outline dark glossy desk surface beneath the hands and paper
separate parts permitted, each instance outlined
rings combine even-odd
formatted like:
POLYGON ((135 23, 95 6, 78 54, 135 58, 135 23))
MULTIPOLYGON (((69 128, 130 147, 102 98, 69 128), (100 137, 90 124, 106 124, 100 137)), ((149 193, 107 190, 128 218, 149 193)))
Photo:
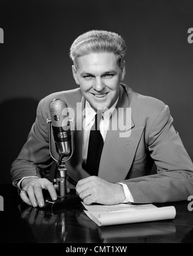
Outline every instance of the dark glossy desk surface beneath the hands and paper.
POLYGON ((0 195, 5 202, 4 212, 0 212, 1 243, 193 242, 189 201, 156 204, 175 206, 174 220, 98 227, 82 211, 79 200, 76 205, 50 212, 26 206, 12 185, 0 185, 0 195))

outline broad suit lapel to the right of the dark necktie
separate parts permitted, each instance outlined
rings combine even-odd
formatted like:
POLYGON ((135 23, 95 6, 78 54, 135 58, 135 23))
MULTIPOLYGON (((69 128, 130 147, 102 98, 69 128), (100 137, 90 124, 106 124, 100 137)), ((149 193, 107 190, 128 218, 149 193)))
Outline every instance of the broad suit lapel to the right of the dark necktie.
POLYGON ((142 133, 143 126, 133 129, 131 136, 125 138, 118 137, 115 131, 109 132, 100 159, 98 177, 109 182, 124 180, 133 163, 142 133))

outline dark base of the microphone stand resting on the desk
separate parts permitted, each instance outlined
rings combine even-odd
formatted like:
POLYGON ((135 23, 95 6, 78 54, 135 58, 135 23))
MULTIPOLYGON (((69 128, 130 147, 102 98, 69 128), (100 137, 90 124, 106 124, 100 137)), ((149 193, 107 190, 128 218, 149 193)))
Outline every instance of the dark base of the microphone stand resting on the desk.
POLYGON ((46 210, 60 210, 62 208, 69 208, 80 203, 80 197, 75 193, 68 193, 64 196, 58 195, 57 200, 53 201, 51 197, 45 199, 44 208, 46 210))

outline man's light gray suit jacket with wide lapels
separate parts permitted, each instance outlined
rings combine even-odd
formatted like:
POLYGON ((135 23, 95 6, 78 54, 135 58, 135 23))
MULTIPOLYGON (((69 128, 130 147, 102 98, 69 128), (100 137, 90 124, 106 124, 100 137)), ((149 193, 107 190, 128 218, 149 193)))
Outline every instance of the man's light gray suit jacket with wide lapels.
MULTIPOLYGON (((113 112, 106 135, 98 177, 109 182, 125 182, 136 203, 187 200, 193 195, 193 164, 183 143, 172 126, 169 107, 158 99, 137 94, 125 84, 120 85, 116 110, 130 108, 131 112, 113 112), (118 115, 118 129, 111 123, 118 115), (125 126, 125 117, 131 118, 125 126), (149 175, 155 162, 157 173, 149 175)), ((57 92, 42 99, 37 118, 19 156, 12 164, 13 184, 25 176, 48 177, 53 159, 49 152, 49 104, 59 98, 75 110, 74 152, 67 162, 69 181, 76 183, 89 174, 82 168, 82 121, 85 99, 80 88, 57 92), (78 107, 77 107, 78 103, 78 107), (79 130, 78 130, 79 129, 79 130)), ((59 158, 51 134, 52 153, 59 158)))

